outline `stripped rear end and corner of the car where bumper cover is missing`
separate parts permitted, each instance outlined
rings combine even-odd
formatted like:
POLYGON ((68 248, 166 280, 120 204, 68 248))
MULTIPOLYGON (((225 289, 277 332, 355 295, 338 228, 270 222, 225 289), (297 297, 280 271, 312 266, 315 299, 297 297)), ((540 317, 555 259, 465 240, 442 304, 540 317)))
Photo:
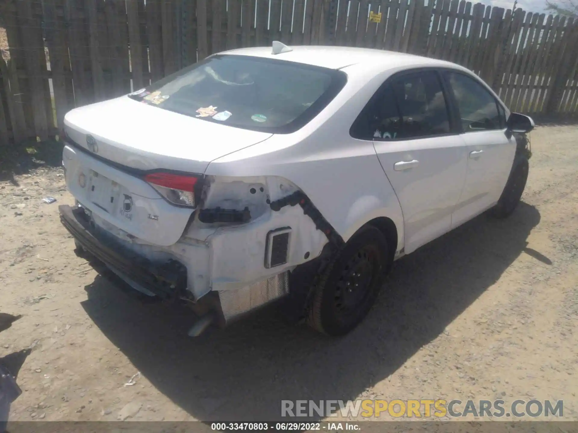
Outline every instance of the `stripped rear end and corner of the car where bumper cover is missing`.
MULTIPOLYGON (((80 244, 113 263, 109 268, 134 289, 164 301, 186 301, 198 316, 189 335, 201 334, 210 324, 225 326, 272 301, 280 301, 290 320, 302 319, 315 279, 343 245, 342 237, 305 193, 284 178, 205 176, 199 192, 182 236, 169 247, 127 237, 90 215, 88 229, 99 241, 120 244, 142 257, 140 270, 127 270, 95 253, 86 241, 80 244), (135 277, 139 272, 156 280, 155 290, 147 289, 151 285, 143 284, 140 275, 135 277)), ((70 223, 63 223, 79 240, 70 223)))

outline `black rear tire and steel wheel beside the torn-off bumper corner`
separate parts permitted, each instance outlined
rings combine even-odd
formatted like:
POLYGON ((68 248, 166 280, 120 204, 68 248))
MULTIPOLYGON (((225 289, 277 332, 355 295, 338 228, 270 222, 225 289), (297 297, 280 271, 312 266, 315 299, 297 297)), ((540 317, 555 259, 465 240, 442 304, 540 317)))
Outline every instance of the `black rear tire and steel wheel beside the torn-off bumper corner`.
POLYGON ((375 303, 391 262, 384 234, 370 225, 362 227, 321 275, 309 325, 334 337, 353 330, 375 303))

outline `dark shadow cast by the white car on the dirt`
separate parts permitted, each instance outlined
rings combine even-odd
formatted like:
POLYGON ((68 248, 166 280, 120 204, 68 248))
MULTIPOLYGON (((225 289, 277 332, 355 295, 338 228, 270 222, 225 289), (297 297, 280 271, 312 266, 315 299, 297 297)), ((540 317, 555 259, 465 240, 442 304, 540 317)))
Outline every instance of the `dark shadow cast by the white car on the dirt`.
POLYGON ((353 400, 395 372, 500 278, 539 221, 520 203, 509 219, 481 215, 404 257, 369 317, 341 339, 285 324, 271 309, 191 339, 188 311, 139 304, 103 277, 86 286, 83 308, 197 419, 277 420, 281 400, 353 400))

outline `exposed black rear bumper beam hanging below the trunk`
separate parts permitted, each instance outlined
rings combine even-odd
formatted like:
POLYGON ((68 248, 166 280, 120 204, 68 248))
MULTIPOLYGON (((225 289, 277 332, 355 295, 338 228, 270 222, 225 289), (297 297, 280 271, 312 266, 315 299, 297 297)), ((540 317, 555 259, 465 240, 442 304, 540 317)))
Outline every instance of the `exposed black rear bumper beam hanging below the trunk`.
POLYGON ((60 221, 77 242, 98 260, 126 275, 162 300, 184 295, 187 288, 187 268, 176 260, 162 265, 150 262, 131 251, 97 237, 82 208, 58 206, 60 221))

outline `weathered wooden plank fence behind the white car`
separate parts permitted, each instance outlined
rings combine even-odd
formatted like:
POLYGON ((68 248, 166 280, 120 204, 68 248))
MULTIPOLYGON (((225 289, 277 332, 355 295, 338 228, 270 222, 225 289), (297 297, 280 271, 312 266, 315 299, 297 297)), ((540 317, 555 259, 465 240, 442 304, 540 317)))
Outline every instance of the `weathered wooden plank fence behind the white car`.
POLYGON ((578 117, 578 20, 465 0, 0 0, 0 144, 57 135, 66 111, 229 48, 426 55, 479 74, 510 109, 578 117), (381 15, 379 15, 381 14, 381 15))

